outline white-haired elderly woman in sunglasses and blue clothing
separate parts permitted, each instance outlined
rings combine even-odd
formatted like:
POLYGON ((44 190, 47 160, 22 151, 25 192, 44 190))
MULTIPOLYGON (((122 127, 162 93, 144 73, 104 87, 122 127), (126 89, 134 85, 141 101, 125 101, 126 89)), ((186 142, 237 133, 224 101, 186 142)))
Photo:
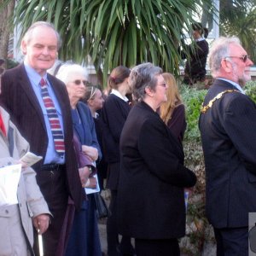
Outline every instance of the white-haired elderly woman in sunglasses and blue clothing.
MULTIPOLYGON (((96 138, 94 120, 90 108, 84 102, 85 85, 87 84, 88 73, 84 67, 76 64, 64 64, 56 74, 67 86, 70 100, 73 131, 79 138, 82 151, 91 161, 102 158, 101 148, 96 138)), ((89 176, 90 173, 87 173, 89 176)), ((85 187, 96 188, 96 178, 89 177, 85 187)), ((67 244, 66 256, 89 255, 101 256, 101 244, 97 227, 96 206, 93 195, 87 195, 83 201, 80 212, 75 212, 73 229, 67 244)))

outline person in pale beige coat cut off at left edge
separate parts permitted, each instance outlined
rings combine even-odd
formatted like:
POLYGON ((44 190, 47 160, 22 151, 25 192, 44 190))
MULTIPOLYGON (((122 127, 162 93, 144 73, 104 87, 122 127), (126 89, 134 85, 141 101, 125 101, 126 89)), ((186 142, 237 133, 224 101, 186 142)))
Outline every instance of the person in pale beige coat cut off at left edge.
MULTIPOLYGON (((4 72, 3 59, 0 59, 1 77, 4 72)), ((29 144, 20 135, 10 120, 9 113, 0 107, 0 167, 16 165, 29 151, 29 144)), ((49 226, 49 208, 42 195, 36 173, 31 167, 22 166, 17 189, 17 203, 0 201, 0 255, 33 255, 32 224, 38 234, 44 234, 49 226)))

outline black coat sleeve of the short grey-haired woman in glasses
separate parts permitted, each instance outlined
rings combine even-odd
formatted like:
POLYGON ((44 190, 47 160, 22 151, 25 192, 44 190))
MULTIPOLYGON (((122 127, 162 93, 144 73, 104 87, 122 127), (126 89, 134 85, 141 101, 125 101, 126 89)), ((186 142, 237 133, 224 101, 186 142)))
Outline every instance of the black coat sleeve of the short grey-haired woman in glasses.
POLYGON ((195 173, 183 166, 177 158, 174 153, 177 148, 172 148, 172 142, 162 127, 159 121, 149 119, 143 124, 139 135, 138 148, 148 170, 174 186, 194 186, 195 173))

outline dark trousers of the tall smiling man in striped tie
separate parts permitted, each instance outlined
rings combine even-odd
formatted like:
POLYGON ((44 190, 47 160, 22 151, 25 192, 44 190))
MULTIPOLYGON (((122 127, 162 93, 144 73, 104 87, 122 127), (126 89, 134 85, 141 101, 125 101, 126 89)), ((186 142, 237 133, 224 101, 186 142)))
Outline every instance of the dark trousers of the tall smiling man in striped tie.
MULTIPOLYGON (((37 182, 41 189, 44 199, 48 204, 49 211, 53 215, 48 230, 43 235, 44 256, 54 256, 59 238, 61 236, 61 228, 65 218, 67 209, 67 186, 66 186, 66 170, 65 166, 60 168, 52 168, 52 170, 40 170, 37 172, 37 182)), ((38 252, 38 236, 35 234, 34 250, 36 255, 38 252)))

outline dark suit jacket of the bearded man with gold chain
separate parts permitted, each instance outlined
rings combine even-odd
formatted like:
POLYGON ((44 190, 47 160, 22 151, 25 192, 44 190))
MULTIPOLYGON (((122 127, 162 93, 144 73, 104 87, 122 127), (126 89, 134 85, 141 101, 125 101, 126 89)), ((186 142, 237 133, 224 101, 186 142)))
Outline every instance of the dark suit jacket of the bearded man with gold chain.
MULTIPOLYGON (((236 89, 217 79, 204 106, 219 92, 236 89)), ((224 94, 199 127, 206 164, 207 218, 215 228, 248 225, 248 212, 256 212, 256 106, 240 92, 224 94)))

